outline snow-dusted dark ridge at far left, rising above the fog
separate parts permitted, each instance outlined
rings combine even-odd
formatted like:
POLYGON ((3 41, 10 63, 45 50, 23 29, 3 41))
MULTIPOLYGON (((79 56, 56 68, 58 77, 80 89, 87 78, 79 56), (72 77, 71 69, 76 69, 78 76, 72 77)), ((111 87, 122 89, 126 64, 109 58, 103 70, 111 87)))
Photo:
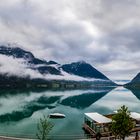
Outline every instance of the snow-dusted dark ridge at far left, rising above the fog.
POLYGON ((38 58, 35 58, 34 55, 29 52, 25 51, 18 47, 9 47, 9 46, 0 46, 0 54, 11 56, 17 59, 23 59, 27 64, 29 69, 36 70, 41 74, 54 74, 54 75, 61 75, 61 71, 59 71, 54 66, 51 65, 58 65, 55 61, 45 61, 38 58))

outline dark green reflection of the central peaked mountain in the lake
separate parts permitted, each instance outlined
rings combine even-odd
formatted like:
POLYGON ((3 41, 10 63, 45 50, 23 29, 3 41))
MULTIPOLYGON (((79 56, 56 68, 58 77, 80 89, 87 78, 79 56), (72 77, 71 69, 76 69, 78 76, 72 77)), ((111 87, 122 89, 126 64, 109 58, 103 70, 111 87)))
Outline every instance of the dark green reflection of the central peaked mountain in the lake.
POLYGON ((102 90, 101 92, 87 92, 76 96, 70 96, 62 100, 61 104, 79 109, 84 109, 98 101, 112 89, 113 88, 110 88, 108 90, 102 90))

